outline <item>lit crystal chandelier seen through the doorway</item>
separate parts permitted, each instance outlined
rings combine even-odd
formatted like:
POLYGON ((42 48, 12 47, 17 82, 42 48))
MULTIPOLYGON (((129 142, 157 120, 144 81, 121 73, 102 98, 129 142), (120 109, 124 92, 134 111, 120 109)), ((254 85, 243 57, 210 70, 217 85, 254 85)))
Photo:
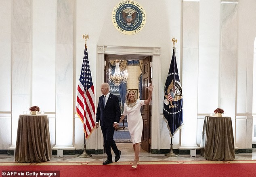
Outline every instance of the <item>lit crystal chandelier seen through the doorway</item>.
POLYGON ((115 86, 119 86, 121 83, 126 83, 128 79, 127 70, 124 73, 120 72, 120 62, 121 60, 114 60, 115 62, 115 72, 112 75, 111 70, 109 69, 109 82, 113 82, 115 86))

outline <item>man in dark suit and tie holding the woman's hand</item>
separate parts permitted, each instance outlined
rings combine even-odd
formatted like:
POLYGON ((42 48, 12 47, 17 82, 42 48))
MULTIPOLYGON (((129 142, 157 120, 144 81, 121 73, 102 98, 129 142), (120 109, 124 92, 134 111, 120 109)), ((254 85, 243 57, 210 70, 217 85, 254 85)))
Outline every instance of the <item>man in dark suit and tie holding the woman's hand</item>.
POLYGON ((109 93, 109 84, 101 84, 101 93, 99 97, 99 103, 96 113, 96 128, 99 128, 99 122, 101 123, 101 131, 103 134, 107 160, 103 162, 103 165, 112 163, 111 148, 115 153, 115 162, 120 159, 121 151, 118 150, 115 141, 113 139, 115 126, 118 126, 121 112, 118 97, 109 93))

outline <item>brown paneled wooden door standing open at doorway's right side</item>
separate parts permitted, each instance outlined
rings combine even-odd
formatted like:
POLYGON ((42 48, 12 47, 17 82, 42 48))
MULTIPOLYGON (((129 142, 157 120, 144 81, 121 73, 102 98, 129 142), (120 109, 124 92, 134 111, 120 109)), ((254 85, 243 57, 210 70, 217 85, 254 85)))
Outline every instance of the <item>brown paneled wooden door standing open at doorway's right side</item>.
MULTIPOLYGON (((142 99, 147 99, 149 91, 147 87, 151 82, 151 70, 150 62, 151 56, 148 56, 143 60, 143 71, 142 71, 142 99)), ((147 152, 150 152, 151 144, 151 106, 149 104, 142 106, 141 115, 143 120, 143 132, 141 137, 141 148, 147 152)))

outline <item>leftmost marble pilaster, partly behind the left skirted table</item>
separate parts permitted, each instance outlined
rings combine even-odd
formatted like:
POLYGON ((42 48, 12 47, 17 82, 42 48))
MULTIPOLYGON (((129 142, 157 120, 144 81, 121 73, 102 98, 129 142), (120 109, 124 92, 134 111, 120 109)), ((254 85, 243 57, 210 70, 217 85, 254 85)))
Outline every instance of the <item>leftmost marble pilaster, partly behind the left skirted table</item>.
POLYGON ((12 5, 12 145, 8 150, 15 148, 19 114, 29 111, 31 91, 31 0, 12 5))

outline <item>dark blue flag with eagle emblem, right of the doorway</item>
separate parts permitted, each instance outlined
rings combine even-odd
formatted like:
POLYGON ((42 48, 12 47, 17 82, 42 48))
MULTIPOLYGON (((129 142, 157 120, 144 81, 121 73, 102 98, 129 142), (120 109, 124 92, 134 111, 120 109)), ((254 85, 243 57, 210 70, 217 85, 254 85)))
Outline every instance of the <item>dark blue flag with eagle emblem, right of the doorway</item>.
POLYGON ((182 88, 178 76, 175 48, 172 51, 172 61, 164 85, 164 118, 168 123, 171 138, 183 125, 182 88))

